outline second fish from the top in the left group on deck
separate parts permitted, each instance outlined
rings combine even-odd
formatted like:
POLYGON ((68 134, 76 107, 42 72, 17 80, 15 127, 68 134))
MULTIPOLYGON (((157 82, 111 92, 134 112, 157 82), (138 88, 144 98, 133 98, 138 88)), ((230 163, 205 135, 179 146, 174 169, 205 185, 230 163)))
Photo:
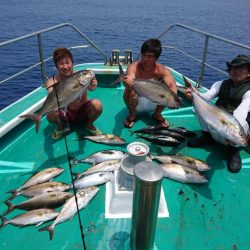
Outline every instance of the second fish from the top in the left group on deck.
POLYGON ((31 186, 25 190, 9 191, 8 193, 12 193, 12 196, 8 200, 11 200, 18 195, 23 195, 25 197, 33 197, 33 196, 37 196, 41 194, 46 194, 49 192, 63 192, 69 189, 70 189, 70 186, 66 183, 49 181, 49 182, 44 182, 44 183, 31 186))

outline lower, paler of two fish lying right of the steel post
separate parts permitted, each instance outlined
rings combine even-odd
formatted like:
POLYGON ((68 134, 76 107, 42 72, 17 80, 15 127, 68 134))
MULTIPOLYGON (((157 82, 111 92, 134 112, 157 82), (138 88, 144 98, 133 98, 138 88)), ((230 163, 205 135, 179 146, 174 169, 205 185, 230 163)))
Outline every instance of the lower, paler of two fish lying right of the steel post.
POLYGON ((195 169, 180 164, 160 164, 164 177, 182 183, 206 183, 207 178, 195 169))

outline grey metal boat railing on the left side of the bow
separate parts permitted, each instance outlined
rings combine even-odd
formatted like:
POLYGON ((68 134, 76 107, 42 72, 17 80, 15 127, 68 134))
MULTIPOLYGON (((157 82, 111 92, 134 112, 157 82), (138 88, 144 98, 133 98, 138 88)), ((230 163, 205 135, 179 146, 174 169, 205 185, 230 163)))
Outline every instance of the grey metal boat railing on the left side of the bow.
POLYGON ((30 33, 30 34, 20 36, 20 37, 10 39, 10 40, 7 40, 5 42, 0 43, 0 48, 1 48, 3 46, 7 46, 7 45, 10 45, 10 44, 13 44, 13 43, 17 43, 17 42, 20 42, 20 41, 23 41, 23 40, 26 40, 26 39, 29 39, 29 38, 32 38, 32 37, 37 37, 38 48, 39 48, 39 58, 40 58, 39 62, 34 63, 30 67, 27 67, 24 70, 21 70, 21 71, 15 73, 15 74, 3 79, 3 80, 1 80, 0 85, 3 84, 3 83, 8 82, 8 81, 10 81, 10 80, 12 80, 14 78, 16 78, 16 77, 18 77, 18 76, 20 76, 20 75, 22 75, 22 74, 24 74, 26 72, 29 72, 29 71, 31 71, 34 68, 39 67, 39 66, 41 67, 41 75, 42 75, 43 82, 45 82, 47 80, 47 78, 46 78, 46 70, 45 70, 45 63, 47 61, 52 60, 52 57, 50 56, 50 57, 44 59, 44 53, 43 53, 44 48, 43 48, 43 43, 42 43, 42 35, 44 33, 48 33, 48 32, 54 31, 54 30, 58 30, 58 29, 61 29, 61 28, 64 28, 64 27, 69 27, 69 28, 73 29, 82 39, 84 39, 85 42, 88 42, 87 45, 74 46, 74 47, 71 47, 69 49, 93 47, 104 58, 104 63, 108 62, 107 55, 92 40, 90 40, 84 33, 82 33, 78 28, 76 28, 71 23, 61 23, 61 24, 58 24, 58 25, 55 25, 55 26, 52 26, 52 27, 49 27, 49 28, 46 28, 46 29, 42 29, 42 30, 30 33))

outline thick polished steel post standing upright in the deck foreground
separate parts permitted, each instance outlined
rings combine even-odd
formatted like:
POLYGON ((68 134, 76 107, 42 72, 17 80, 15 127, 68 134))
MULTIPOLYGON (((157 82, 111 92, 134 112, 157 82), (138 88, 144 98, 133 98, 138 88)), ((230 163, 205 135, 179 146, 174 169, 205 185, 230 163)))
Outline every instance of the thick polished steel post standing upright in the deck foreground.
POLYGON ((162 178, 163 170, 156 163, 143 161, 135 165, 131 249, 153 249, 162 178))

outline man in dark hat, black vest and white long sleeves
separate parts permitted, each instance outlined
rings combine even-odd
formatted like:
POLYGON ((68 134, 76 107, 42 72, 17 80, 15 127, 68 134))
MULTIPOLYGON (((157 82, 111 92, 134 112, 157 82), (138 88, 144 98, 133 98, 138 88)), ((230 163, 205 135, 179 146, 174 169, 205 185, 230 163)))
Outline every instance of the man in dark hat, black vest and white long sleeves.
MULTIPOLYGON (((227 62, 229 77, 224 81, 215 82, 206 93, 200 95, 210 101, 218 97, 216 106, 231 113, 242 125, 244 131, 249 133, 250 124, 250 57, 238 55, 231 62, 227 62)), ((186 91, 190 98, 190 90, 186 91)), ((202 136, 188 141, 192 148, 210 145, 213 138, 208 132, 206 124, 201 122, 202 136)), ((239 154, 240 148, 228 146, 227 168, 230 172, 239 172, 242 166, 239 154)))

